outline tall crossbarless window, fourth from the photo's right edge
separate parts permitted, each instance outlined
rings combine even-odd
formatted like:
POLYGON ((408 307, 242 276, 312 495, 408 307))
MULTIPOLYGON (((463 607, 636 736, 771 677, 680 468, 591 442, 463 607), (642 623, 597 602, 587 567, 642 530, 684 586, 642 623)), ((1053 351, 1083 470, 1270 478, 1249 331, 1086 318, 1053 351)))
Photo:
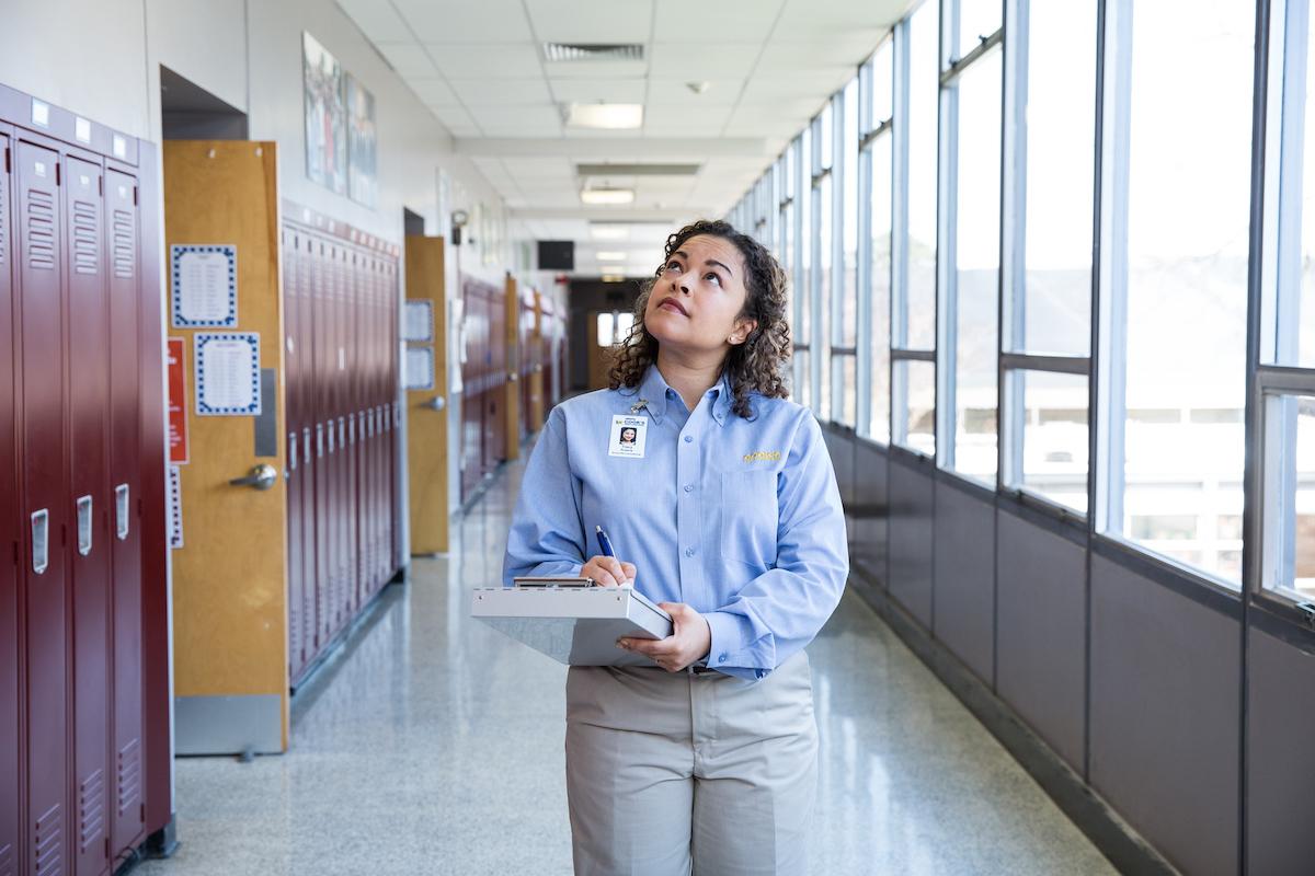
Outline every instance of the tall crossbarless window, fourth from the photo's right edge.
MULTIPOLYGON (((961 0, 944 0, 957 22, 961 0)), ((998 8, 998 4, 997 4, 998 8)), ((953 30, 953 29, 951 29, 953 30)), ((940 336, 938 445, 940 465, 995 486, 1001 42, 995 30, 973 41, 942 72, 940 93, 940 336)), ((953 34, 947 34, 952 39, 953 34)))

